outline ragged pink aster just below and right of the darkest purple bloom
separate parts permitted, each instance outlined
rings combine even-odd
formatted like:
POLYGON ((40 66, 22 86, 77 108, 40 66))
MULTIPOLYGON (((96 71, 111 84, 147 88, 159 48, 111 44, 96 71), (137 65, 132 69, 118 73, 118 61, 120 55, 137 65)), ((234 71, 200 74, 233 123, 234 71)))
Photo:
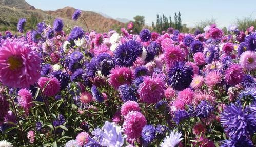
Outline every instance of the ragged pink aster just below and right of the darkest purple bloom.
POLYGON ((190 88, 186 88, 178 93, 177 99, 183 101, 185 104, 192 102, 194 98, 194 91, 190 88))

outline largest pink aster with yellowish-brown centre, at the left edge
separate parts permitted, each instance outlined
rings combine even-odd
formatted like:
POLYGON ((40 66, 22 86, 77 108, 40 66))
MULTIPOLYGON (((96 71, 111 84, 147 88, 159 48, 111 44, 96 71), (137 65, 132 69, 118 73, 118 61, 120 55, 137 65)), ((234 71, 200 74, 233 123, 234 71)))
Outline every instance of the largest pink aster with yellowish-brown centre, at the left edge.
POLYGON ((0 81, 13 88, 27 88, 40 78, 40 58, 27 42, 7 39, 0 47, 0 81))

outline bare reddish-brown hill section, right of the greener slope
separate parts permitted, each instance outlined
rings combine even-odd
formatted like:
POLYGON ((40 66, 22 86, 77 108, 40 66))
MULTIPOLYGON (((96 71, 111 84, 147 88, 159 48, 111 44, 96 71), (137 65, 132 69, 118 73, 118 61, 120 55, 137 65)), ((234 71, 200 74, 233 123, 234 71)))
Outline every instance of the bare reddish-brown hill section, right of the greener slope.
MULTIPOLYGON (((50 14, 51 16, 71 19, 74 11, 75 11, 75 9, 72 7, 65 7, 63 9, 58 9, 55 11, 45 11, 45 12, 50 14)), ((124 23, 122 23, 122 22, 103 17, 99 13, 95 13, 95 12, 91 12, 91 11, 82 11, 81 16, 86 20, 86 23, 87 23, 89 29, 97 30, 100 32, 108 31, 114 25, 124 26, 124 23)), ((84 21, 82 19, 79 19, 78 22, 84 24, 84 21)))

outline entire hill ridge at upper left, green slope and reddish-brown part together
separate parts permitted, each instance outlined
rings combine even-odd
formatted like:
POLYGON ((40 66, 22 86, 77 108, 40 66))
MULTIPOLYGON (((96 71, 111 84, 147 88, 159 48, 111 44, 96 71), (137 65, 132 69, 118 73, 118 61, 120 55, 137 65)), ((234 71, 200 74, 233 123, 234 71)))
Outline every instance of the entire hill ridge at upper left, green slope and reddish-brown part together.
MULTIPOLYGON (((71 28, 77 25, 86 29, 83 20, 73 21, 71 19, 75 10, 72 7, 65 7, 55 11, 43 11, 34 8, 24 0, 0 0, 0 29, 4 27, 14 30, 19 18, 29 18, 31 15, 35 16, 38 20, 45 20, 49 23, 56 17, 60 17, 71 28)), ((90 30, 96 30, 98 32, 109 31, 113 26, 124 26, 124 23, 120 21, 106 18, 92 11, 82 11, 81 16, 86 20, 90 30)), ((5 29, 1 30, 3 31, 5 29)))

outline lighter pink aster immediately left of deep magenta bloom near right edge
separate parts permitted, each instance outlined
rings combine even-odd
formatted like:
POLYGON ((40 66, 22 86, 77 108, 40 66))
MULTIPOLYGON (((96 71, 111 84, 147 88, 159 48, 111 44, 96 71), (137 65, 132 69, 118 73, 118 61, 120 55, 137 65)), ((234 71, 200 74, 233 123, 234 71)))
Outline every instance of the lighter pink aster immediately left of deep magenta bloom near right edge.
POLYGON ((209 71, 205 76, 205 84, 208 87, 213 87, 221 82, 221 73, 219 71, 213 70, 209 71))

